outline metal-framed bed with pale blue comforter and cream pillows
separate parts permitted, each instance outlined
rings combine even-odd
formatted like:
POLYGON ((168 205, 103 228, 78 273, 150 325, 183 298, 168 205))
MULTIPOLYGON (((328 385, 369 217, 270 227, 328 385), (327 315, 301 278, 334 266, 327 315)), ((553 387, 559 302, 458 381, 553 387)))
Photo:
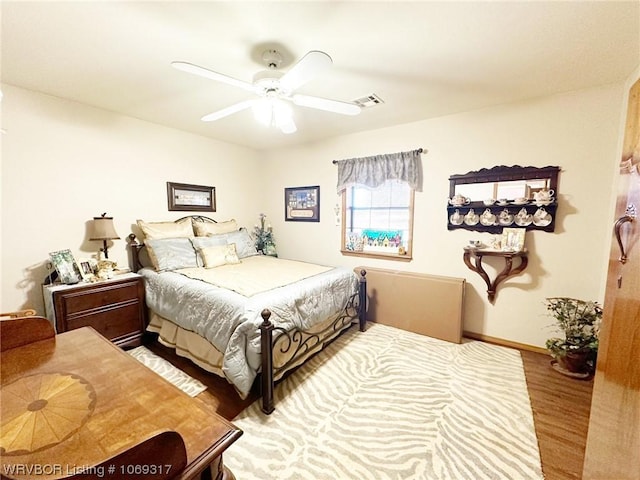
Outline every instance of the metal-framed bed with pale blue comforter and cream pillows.
POLYGON ((144 222, 129 235, 145 279, 147 331, 245 398, 274 385, 353 324, 366 326, 366 272, 259 254, 234 220, 193 215, 144 222), (144 242, 139 238, 144 236, 144 242))

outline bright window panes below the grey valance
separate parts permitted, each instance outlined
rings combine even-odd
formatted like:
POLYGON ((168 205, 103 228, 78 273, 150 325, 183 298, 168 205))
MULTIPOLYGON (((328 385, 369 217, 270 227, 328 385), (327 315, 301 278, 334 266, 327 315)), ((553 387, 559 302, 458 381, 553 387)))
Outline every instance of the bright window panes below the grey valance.
POLYGON ((413 199, 414 190, 402 181, 348 186, 342 193, 342 253, 411 260, 413 199))

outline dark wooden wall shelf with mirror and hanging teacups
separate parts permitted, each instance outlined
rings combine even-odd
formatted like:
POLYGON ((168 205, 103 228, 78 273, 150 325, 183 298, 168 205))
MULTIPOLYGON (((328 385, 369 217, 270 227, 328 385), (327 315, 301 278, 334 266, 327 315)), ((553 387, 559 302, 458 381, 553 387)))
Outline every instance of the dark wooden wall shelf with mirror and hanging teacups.
POLYGON ((507 167, 449 177, 447 228, 500 233, 504 227, 553 232, 560 167, 507 167))

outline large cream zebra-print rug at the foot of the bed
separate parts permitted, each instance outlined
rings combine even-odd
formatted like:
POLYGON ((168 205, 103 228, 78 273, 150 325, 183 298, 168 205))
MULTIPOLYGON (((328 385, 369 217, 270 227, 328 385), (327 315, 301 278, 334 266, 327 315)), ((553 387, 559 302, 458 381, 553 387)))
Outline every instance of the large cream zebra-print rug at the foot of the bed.
POLYGON ((544 478, 520 353, 380 324, 351 328, 233 423, 256 480, 544 478))

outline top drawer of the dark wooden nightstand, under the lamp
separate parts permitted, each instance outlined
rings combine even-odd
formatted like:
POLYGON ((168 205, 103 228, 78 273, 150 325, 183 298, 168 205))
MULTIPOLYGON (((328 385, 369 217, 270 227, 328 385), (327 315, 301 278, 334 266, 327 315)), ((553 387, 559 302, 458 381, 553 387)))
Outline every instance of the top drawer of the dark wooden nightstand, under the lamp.
POLYGON ((99 288, 79 289, 62 296, 64 311, 67 315, 74 315, 106 305, 118 305, 123 302, 138 299, 138 282, 127 282, 115 285, 105 285, 99 288))

